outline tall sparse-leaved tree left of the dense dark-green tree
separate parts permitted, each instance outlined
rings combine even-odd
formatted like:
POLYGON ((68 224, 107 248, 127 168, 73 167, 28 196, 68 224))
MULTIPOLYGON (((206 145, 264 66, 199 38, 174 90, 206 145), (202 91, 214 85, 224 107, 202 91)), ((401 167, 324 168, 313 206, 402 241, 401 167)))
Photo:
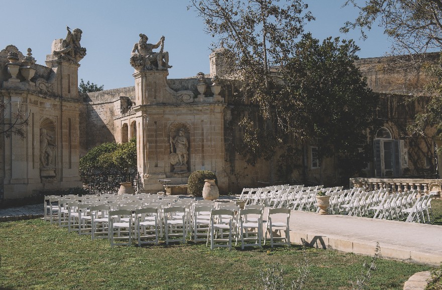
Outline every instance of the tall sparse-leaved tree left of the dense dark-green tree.
MULTIPOLYGON (((247 131, 239 151, 253 148, 248 162, 254 164, 264 157, 273 163, 278 138, 275 135, 273 96, 276 93, 275 79, 271 67, 284 65, 294 49, 294 39, 302 32, 304 24, 313 20, 307 5, 302 0, 292 0, 281 5, 279 0, 191 0, 191 6, 204 19, 206 31, 219 38, 228 50, 225 51, 225 73, 242 82, 239 103, 245 100, 252 107, 243 107, 245 113, 239 120, 247 131), (266 128, 258 126, 248 114, 256 110, 263 117, 266 128), (259 140, 259 141, 256 141, 259 140), (241 149, 242 148, 242 149, 241 149)), ((190 9, 189 7, 189 9, 190 9)), ((214 45, 213 45, 214 46, 214 45)), ((273 169, 273 166, 270 166, 273 169)), ((273 172, 270 179, 274 179, 273 172)))

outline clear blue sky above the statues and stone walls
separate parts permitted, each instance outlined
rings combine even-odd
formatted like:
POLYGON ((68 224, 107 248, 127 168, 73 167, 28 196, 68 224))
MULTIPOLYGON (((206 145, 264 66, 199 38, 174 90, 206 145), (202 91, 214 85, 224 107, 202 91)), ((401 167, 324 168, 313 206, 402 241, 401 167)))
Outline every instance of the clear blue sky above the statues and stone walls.
MULTIPOLYGON (((341 8, 345 0, 304 0, 316 21, 306 26, 313 37, 340 36, 354 39, 361 47, 361 58, 383 56, 390 43, 375 27, 368 40, 360 40, 358 31, 341 35, 339 28, 354 20, 357 11, 341 8)), ((133 86, 134 69, 129 64, 131 50, 139 34, 156 43, 165 36, 164 50, 169 52, 169 78, 209 73, 208 56, 213 39, 205 34, 203 20, 187 10, 187 0, 0 0, 4 25, 0 50, 13 44, 26 54, 28 47, 38 64, 45 65, 54 39, 65 38, 66 26, 83 31, 81 46, 87 55, 80 61, 78 78, 90 80, 104 89, 133 86)))

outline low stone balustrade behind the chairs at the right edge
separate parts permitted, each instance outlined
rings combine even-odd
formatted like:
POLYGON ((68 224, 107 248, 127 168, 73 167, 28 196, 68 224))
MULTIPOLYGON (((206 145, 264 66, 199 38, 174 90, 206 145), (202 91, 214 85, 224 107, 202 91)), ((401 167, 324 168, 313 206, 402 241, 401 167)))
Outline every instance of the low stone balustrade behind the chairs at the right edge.
POLYGON ((414 189, 418 195, 435 192, 440 196, 442 179, 410 179, 410 178, 351 178, 350 188, 365 188, 369 191, 381 188, 388 189, 391 193, 401 193, 414 189))

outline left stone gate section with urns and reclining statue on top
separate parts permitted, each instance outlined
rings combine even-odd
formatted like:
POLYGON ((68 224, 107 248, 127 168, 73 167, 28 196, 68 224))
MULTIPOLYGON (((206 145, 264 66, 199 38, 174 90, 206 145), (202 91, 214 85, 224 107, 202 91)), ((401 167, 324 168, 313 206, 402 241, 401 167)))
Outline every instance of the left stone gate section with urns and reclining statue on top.
POLYGON ((17 114, 27 121, 24 136, 0 138, 0 189, 5 199, 23 198, 41 190, 81 186, 78 94, 79 60, 85 55, 81 31, 68 30, 55 40, 46 66, 38 65, 14 45, 0 51, 0 98, 6 104, 0 129, 17 114))

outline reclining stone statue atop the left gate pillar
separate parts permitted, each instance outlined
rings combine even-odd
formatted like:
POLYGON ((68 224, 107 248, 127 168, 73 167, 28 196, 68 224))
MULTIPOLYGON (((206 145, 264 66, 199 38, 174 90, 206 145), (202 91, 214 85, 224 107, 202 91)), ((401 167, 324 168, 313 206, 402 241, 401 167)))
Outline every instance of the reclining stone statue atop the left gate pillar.
POLYGON ((83 32, 78 28, 71 32, 67 26, 66 30, 66 39, 55 40, 52 44, 54 47, 52 54, 59 56, 59 58, 65 58, 68 61, 78 63, 86 55, 86 49, 80 46, 81 34, 83 32))

